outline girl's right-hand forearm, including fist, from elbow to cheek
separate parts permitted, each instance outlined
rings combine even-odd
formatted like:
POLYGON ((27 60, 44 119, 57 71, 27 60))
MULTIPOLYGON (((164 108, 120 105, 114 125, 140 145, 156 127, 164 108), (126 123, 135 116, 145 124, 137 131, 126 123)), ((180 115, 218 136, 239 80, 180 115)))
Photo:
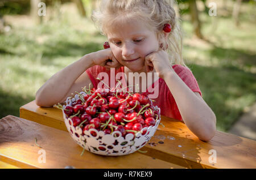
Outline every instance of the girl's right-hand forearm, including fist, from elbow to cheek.
POLYGON ((216 132, 215 114, 203 98, 197 97, 196 93, 176 74, 170 64, 167 52, 163 50, 152 52, 145 57, 145 60, 147 72, 150 71, 150 67, 155 68, 159 77, 166 82, 189 130, 200 140, 212 139, 216 132))

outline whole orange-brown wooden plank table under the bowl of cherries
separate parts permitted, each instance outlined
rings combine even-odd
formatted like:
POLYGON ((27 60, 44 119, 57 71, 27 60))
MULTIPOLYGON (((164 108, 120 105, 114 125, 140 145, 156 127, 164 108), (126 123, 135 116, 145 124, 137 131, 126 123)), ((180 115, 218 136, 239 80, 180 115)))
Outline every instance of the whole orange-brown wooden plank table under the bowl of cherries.
POLYGON ((146 153, 109 157, 84 151, 81 156, 61 110, 32 101, 20 108, 20 117, 0 120, 0 168, 256 168, 254 140, 217 131, 203 142, 180 121, 161 115, 161 122, 140 149, 146 153), (39 160, 41 151, 46 163, 39 160))

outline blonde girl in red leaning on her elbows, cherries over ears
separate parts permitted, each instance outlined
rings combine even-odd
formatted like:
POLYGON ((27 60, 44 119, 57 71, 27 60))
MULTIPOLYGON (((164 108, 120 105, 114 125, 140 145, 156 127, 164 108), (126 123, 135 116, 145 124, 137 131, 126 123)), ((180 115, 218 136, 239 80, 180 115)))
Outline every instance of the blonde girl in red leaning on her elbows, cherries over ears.
MULTIPOLYGON (((134 87, 129 83, 133 82, 129 72, 144 73, 153 82, 147 88, 156 84, 159 87, 154 105, 162 115, 183 121, 200 140, 213 138, 216 116, 184 65, 180 28, 174 8, 166 0, 102 0, 92 19, 108 38, 110 48, 86 54, 53 75, 36 92, 37 105, 51 107, 64 102, 71 93, 89 84, 97 89, 98 74, 110 75, 110 68, 115 68, 115 74, 123 72, 127 84, 134 87), (155 81, 156 77, 147 72, 158 73, 159 79, 155 81)), ((142 92, 142 81, 139 84, 142 92)))

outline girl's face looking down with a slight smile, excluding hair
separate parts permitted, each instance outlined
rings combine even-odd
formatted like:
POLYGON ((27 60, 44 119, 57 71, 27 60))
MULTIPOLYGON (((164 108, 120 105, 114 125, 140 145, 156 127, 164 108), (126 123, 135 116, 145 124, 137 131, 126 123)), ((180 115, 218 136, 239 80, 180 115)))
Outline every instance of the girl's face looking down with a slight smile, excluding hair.
POLYGON ((159 50, 155 33, 138 20, 115 23, 108 32, 108 40, 114 57, 131 71, 145 71, 144 58, 159 50))

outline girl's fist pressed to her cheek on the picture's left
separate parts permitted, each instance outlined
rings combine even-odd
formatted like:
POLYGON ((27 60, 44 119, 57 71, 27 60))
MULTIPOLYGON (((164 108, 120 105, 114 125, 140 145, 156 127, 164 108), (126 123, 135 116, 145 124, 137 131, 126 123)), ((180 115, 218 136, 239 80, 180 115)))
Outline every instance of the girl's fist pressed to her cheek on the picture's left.
POLYGON ((110 68, 119 68, 122 66, 117 61, 117 59, 115 59, 110 48, 91 53, 91 57, 94 65, 103 66, 107 70, 110 70, 110 68))

